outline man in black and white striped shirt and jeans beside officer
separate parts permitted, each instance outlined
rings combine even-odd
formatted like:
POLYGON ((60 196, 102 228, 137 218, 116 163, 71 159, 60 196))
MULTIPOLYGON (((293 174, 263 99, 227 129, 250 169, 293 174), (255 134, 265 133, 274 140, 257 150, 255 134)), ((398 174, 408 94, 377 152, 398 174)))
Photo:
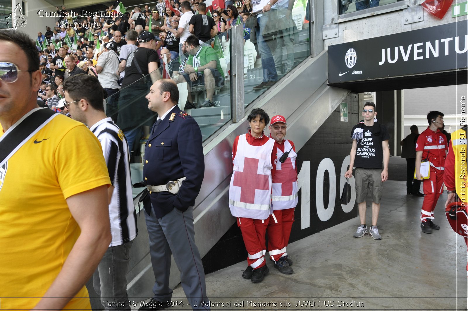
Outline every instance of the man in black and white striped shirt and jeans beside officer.
POLYGON ((101 142, 112 184, 108 189, 112 242, 93 274, 94 289, 101 296, 105 309, 131 310, 126 273, 132 240, 138 230, 128 143, 122 130, 106 117, 102 86, 96 77, 88 74, 71 76, 64 82, 63 89, 71 117, 88 125, 101 142))

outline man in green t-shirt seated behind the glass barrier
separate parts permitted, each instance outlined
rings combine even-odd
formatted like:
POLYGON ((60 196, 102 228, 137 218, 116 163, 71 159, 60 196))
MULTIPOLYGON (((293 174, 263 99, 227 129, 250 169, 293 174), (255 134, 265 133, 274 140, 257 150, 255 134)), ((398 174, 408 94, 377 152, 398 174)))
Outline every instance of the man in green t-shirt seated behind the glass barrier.
POLYGON ((219 58, 211 46, 201 46, 198 38, 190 36, 185 40, 184 46, 189 54, 184 73, 178 77, 178 83, 187 82, 189 96, 186 108, 206 108, 214 106, 213 93, 215 87, 224 85, 224 73, 219 58), (190 89, 193 86, 205 83, 206 97, 203 104, 192 104, 190 89))

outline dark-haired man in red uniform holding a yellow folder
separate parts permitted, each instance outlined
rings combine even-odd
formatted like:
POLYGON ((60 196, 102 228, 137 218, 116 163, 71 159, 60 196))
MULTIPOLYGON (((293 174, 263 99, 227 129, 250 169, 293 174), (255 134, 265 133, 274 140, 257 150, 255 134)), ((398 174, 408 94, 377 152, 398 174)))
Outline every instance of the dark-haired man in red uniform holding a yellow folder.
POLYGON ((440 227, 432 222, 434 208, 443 191, 444 165, 447 138, 441 132, 444 125, 444 114, 440 111, 430 111, 427 114, 429 126, 419 135, 416 143, 416 179, 423 180, 420 168, 422 161, 430 162, 429 178, 424 179, 424 202, 421 209, 421 230, 424 233, 432 233, 440 227))

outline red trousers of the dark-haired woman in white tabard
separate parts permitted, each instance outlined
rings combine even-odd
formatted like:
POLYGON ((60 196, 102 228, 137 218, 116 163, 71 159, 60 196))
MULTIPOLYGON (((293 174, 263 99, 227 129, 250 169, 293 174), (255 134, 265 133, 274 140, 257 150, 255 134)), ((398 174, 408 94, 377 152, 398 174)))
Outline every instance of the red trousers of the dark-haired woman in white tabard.
POLYGON ((247 250, 247 264, 258 269, 265 263, 265 233, 269 218, 253 219, 237 217, 237 226, 241 228, 242 239, 247 250))

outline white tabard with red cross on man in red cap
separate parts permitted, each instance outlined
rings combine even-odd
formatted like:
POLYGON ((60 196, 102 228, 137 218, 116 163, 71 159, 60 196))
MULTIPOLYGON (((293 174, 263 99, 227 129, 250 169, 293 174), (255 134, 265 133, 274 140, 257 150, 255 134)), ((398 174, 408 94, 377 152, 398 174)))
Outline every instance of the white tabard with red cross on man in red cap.
POLYGON ((299 200, 297 196, 297 154, 292 150, 291 143, 288 140, 285 140, 283 144, 284 150, 291 150, 291 152, 286 161, 281 163, 279 162, 279 158, 283 155, 283 152, 275 147, 277 155, 273 165, 276 167, 276 171, 272 185, 272 205, 274 210, 296 207, 299 200))

